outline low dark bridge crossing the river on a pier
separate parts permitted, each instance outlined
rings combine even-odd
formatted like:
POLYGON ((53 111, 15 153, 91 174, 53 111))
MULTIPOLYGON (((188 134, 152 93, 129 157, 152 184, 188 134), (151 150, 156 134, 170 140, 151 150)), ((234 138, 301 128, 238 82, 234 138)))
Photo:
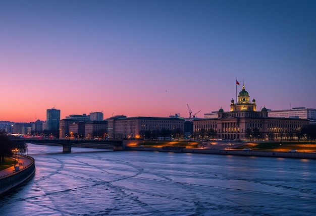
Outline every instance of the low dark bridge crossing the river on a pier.
MULTIPOLYGON (((49 144, 49 143, 55 143, 63 146, 63 152, 64 153, 70 153, 71 152, 71 146, 76 144, 103 144, 103 148, 106 149, 113 149, 113 150, 123 150, 124 144, 123 140, 113 139, 98 139, 98 140, 88 140, 88 139, 34 139, 34 138, 23 138, 23 139, 14 139, 14 141, 17 144, 26 144, 26 143, 32 143, 32 144, 49 144), (104 145, 105 144, 105 145, 104 145), (105 146, 105 147, 104 147, 105 146)), ((82 146, 80 146, 82 147, 82 146)), ((87 146, 89 147, 89 146, 87 146)))

